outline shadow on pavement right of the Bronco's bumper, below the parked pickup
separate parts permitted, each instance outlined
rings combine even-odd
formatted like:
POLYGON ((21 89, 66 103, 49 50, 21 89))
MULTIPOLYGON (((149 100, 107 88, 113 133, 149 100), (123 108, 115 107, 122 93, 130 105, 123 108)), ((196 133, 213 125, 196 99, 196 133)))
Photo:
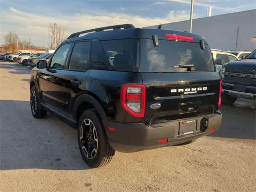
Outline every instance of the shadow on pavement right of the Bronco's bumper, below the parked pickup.
POLYGON ((211 137, 256 139, 256 101, 247 99, 237 99, 231 105, 222 104, 221 128, 209 134, 211 137))

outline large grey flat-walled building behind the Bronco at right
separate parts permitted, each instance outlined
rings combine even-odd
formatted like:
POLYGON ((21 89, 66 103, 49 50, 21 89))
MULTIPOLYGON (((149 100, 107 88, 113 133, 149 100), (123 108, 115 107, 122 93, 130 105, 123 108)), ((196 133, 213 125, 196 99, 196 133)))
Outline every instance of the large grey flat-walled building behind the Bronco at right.
MULTIPOLYGON (((146 28, 157 28, 148 26, 146 28)), ((162 24, 163 29, 190 30, 190 20, 162 24)), ((192 33, 206 38, 213 49, 256 49, 256 9, 193 19, 192 33)))

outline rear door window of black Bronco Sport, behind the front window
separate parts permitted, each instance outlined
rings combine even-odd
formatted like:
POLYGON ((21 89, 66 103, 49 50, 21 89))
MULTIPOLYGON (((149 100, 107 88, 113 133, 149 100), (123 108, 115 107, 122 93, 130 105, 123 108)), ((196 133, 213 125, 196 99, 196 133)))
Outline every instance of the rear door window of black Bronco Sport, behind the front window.
POLYGON ((75 43, 68 68, 88 70, 90 68, 89 48, 90 41, 75 43))

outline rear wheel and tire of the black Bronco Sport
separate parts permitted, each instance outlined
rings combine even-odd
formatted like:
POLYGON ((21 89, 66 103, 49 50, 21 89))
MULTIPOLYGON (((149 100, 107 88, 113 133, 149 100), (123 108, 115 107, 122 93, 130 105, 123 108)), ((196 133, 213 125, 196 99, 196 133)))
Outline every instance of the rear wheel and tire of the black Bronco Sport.
POLYGON ((86 164, 92 168, 105 166, 115 150, 110 147, 96 109, 82 113, 78 122, 78 145, 86 164))

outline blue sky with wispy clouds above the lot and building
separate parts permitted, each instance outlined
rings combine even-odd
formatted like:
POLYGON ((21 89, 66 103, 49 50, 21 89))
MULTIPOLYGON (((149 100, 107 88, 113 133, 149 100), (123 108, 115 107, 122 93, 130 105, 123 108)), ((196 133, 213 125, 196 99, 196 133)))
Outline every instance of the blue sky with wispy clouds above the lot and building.
MULTIPOLYGON (((256 9, 256 0, 194 0, 194 18, 256 9)), ((189 19, 190 0, 0 0, 0 44, 16 32, 30 36, 33 44, 46 46, 48 24, 65 26, 67 33, 122 23, 137 27, 189 19)))

